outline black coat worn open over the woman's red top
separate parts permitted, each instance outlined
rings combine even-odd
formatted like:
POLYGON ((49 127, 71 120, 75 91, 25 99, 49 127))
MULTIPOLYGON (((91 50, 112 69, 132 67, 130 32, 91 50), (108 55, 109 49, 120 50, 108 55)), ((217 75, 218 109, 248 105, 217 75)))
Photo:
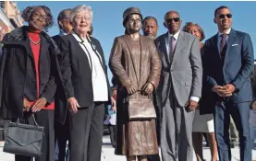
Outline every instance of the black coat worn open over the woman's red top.
MULTIPOLYGON (((39 58, 39 98, 48 104, 55 96, 55 81, 61 80, 57 55, 61 56, 54 40, 41 32, 39 58)), ((22 118, 23 99, 37 99, 36 73, 27 27, 6 34, 0 68, 0 118, 22 118)), ((61 82, 61 81, 60 81, 61 82)))

